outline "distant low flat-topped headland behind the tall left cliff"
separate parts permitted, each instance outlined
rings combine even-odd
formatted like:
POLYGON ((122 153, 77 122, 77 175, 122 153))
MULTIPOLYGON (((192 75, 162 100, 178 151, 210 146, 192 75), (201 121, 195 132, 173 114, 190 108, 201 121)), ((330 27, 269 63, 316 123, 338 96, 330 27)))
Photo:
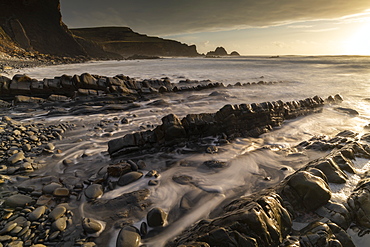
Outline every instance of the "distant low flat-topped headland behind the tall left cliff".
POLYGON ((175 40, 149 37, 128 27, 97 27, 71 29, 72 33, 100 44, 105 51, 123 57, 148 56, 199 56, 195 45, 182 44, 175 40))

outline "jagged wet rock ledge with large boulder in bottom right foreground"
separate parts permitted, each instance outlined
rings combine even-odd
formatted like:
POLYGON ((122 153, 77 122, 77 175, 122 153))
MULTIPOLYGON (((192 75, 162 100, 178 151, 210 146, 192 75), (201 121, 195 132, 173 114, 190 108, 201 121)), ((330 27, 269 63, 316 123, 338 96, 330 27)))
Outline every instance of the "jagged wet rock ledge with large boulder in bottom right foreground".
POLYGON ((329 184, 346 182, 345 172, 356 172, 352 160, 369 159, 369 151, 348 143, 277 186, 229 203, 219 217, 198 222, 168 246, 355 246, 346 230, 351 224, 370 227, 369 178, 344 204, 331 201, 329 184), (297 230, 293 222, 306 226, 297 230))

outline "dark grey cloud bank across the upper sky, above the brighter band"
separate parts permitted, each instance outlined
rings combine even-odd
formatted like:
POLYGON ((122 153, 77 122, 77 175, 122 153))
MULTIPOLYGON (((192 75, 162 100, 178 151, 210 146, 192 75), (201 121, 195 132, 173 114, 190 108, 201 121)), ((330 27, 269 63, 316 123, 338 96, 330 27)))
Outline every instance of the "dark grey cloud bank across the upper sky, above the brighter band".
POLYGON ((61 0, 71 27, 121 26, 155 35, 267 27, 339 19, 370 9, 369 0, 61 0))

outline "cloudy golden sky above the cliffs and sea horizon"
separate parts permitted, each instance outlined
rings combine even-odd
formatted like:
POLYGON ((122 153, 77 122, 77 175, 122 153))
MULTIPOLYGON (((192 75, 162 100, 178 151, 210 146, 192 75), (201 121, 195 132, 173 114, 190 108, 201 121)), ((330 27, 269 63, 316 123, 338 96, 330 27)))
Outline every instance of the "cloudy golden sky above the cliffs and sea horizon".
POLYGON ((206 53, 370 55, 369 0, 60 0, 70 28, 128 26, 206 53))

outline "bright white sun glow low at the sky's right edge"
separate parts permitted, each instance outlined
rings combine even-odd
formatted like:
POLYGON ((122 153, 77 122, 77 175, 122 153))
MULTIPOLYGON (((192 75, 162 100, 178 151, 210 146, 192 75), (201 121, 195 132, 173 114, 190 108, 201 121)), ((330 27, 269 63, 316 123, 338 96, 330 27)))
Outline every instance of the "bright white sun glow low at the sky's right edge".
POLYGON ((346 54, 370 56, 370 19, 361 23, 359 28, 346 40, 346 54))

